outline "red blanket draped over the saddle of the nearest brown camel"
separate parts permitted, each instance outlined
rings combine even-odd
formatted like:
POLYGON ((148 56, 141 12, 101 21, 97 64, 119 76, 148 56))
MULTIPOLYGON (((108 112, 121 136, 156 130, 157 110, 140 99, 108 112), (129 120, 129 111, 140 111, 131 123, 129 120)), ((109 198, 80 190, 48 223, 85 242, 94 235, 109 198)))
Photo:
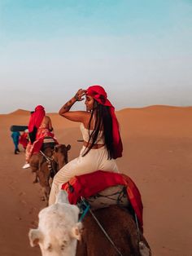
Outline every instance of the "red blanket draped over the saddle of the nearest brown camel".
POLYGON ((77 201, 81 199, 81 196, 86 199, 89 196, 94 196, 94 194, 103 191, 105 188, 118 184, 126 187, 129 201, 137 215, 139 227, 142 230, 142 197, 136 184, 133 183, 133 180, 130 179, 129 176, 98 170, 94 173, 73 177, 70 179, 69 183, 63 184, 62 189, 68 192, 68 201, 72 205, 76 205, 77 201), (70 190, 70 185, 73 191, 70 190))

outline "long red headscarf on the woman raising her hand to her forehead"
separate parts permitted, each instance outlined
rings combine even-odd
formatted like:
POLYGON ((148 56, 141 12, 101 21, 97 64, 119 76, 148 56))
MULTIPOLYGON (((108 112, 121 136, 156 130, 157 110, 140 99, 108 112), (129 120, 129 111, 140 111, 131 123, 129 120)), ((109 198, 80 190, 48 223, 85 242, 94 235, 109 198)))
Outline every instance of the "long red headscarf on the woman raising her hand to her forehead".
POLYGON ((122 157, 123 144, 120 139, 120 126, 116 119, 115 108, 111 102, 107 99, 107 93, 102 86, 89 86, 87 89, 87 95, 93 97, 99 104, 110 107, 112 117, 112 134, 113 134, 113 158, 122 157))

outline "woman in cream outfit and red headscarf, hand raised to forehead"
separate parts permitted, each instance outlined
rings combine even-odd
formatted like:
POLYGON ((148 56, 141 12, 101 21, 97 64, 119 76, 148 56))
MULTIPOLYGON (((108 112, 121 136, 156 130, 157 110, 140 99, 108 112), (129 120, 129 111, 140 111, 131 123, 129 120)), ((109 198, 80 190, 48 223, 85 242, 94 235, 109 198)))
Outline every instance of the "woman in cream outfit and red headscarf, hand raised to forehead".
POLYGON ((84 142, 80 156, 63 166, 55 175, 49 205, 55 203, 55 197, 62 184, 76 175, 96 170, 119 172, 115 159, 122 157, 123 151, 115 108, 107 99, 107 93, 102 86, 78 90, 59 110, 59 115, 71 121, 81 122, 84 142), (86 111, 70 111, 76 101, 84 99, 83 96, 86 98, 86 111))

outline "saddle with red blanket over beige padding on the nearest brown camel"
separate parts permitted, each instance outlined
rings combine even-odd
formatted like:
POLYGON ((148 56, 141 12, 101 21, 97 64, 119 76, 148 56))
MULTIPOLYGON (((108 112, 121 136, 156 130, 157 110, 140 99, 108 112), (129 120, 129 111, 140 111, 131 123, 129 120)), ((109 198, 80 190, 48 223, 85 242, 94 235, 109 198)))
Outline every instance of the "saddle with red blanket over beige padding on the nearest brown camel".
POLYGON ((68 201, 73 205, 78 204, 81 198, 85 198, 94 209, 114 204, 131 206, 142 230, 142 197, 129 176, 98 170, 73 177, 62 185, 62 189, 68 192, 68 201))

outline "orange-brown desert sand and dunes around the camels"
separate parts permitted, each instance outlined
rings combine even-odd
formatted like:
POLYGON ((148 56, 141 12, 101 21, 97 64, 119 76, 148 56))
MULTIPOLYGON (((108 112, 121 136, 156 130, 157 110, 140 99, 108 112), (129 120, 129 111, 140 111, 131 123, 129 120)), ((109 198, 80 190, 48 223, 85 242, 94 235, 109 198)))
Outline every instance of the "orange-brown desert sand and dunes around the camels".
MULTIPOLYGON (((59 143, 70 143, 69 160, 78 156, 79 124, 48 113, 59 143)), ((137 184, 144 205, 144 234, 155 256, 192 255, 192 108, 151 106, 117 112, 124 143, 120 170, 137 184)), ((29 112, 0 115, 0 255, 38 256, 28 230, 37 227, 45 207, 34 174, 23 170, 24 149, 14 155, 11 125, 27 125, 29 112)))

